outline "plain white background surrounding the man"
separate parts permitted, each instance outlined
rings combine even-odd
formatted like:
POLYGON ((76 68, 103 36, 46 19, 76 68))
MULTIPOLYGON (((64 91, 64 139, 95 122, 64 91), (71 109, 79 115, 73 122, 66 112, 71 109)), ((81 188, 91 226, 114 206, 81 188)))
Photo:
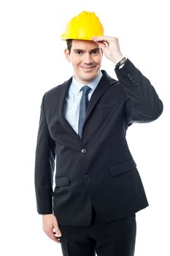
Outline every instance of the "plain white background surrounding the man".
MULTIPOLYGON (((163 114, 127 131, 150 206, 136 214, 137 256, 170 255, 169 249, 169 7, 168 1, 5 0, 0 4, 1 255, 57 255, 60 244, 42 230, 34 195, 34 153, 45 91, 72 76, 60 37, 66 23, 96 12, 105 34, 163 100, 163 114)), ((102 69, 116 78, 105 59, 102 69)), ((107 256, 107 255, 106 255, 107 256)))

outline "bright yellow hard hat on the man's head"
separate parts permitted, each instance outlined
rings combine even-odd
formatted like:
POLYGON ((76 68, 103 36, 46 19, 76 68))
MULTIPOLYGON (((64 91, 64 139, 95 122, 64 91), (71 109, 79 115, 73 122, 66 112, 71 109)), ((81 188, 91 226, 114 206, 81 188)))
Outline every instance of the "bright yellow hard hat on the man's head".
POLYGON ((94 12, 81 12, 67 23, 61 35, 62 40, 82 39, 93 41, 91 37, 104 35, 104 28, 94 12))

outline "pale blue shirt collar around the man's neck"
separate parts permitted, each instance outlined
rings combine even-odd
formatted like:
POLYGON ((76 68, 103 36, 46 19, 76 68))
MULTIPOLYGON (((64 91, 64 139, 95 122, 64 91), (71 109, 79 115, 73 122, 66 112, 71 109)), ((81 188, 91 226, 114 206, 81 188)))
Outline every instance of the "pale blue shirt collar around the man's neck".
POLYGON ((78 82, 78 81, 74 78, 74 76, 73 76, 73 78, 72 78, 72 85, 71 85, 70 89, 73 91, 73 93, 74 93, 75 95, 77 95, 77 94, 80 93, 80 90, 82 89, 82 86, 89 86, 90 89, 94 91, 94 90, 96 89, 96 87, 98 86, 98 83, 99 83, 99 81, 101 80, 102 76, 103 76, 103 74, 102 74, 102 72, 100 71, 99 74, 98 74, 98 76, 97 76, 97 78, 95 78, 95 80, 93 80, 92 82, 90 82, 90 83, 88 83, 88 84, 86 84, 86 85, 83 84, 83 83, 78 82))

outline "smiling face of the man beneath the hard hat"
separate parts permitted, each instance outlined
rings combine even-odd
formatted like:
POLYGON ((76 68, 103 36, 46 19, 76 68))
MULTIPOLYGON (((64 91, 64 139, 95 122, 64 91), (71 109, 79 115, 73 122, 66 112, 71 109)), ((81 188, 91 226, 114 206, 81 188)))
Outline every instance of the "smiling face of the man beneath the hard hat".
POLYGON ((72 63, 74 77, 83 84, 93 81, 101 68, 102 53, 96 42, 72 40, 71 52, 65 50, 67 61, 72 63))

